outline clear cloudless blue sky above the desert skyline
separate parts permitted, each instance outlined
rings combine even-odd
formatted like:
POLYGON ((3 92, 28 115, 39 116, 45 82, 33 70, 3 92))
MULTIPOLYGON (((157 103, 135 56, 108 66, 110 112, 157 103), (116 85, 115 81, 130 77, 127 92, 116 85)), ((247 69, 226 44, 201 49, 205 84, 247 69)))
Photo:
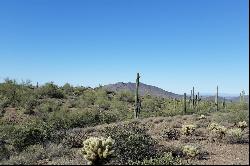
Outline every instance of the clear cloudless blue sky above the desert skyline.
POLYGON ((0 81, 249 87, 247 0, 0 0, 0 81))

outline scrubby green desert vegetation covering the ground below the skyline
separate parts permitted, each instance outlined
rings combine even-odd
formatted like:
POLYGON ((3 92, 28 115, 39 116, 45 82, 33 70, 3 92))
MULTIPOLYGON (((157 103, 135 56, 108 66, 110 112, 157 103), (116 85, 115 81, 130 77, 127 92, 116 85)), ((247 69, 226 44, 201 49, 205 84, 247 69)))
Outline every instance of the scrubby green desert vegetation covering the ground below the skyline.
POLYGON ((130 91, 53 83, 36 87, 6 79, 0 83, 0 164, 179 165, 190 158, 195 164, 203 160, 201 150, 217 148, 209 136, 221 140, 216 142, 221 146, 249 141, 248 103, 226 103, 216 112, 214 101, 197 98, 195 108, 187 101, 184 113, 182 100, 139 98, 139 118, 133 120, 135 95, 130 91), (100 144, 107 141, 101 136, 114 142, 100 144), (87 152, 84 140, 96 142, 91 148, 97 151, 91 153, 98 155, 87 152))

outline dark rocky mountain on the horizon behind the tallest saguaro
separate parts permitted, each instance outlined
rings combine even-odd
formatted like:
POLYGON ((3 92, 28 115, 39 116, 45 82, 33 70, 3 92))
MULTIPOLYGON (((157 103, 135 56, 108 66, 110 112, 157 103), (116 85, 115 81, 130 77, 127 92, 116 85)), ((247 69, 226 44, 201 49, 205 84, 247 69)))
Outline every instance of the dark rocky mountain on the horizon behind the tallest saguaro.
MULTIPOLYGON (((136 84, 135 83, 123 83, 123 82, 118 82, 116 84, 109 84, 109 85, 104 85, 104 89, 110 90, 110 91, 131 91, 134 92, 136 90, 136 84)), ((139 87, 139 94, 144 96, 144 95, 152 95, 155 97, 163 97, 163 98, 181 98, 182 95, 178 95, 172 92, 165 91, 161 88, 152 86, 152 85, 146 85, 143 83, 140 83, 139 87)))

